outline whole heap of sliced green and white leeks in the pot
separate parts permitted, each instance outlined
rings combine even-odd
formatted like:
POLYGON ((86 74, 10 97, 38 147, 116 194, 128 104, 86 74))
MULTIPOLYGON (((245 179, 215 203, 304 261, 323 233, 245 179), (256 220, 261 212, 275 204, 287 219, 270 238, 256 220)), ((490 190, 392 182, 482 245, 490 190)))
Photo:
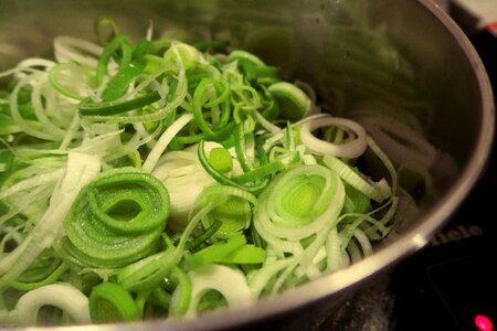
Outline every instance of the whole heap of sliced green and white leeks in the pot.
POLYGON ((95 30, 0 74, 0 323, 246 307, 371 255, 415 209, 361 125, 262 57, 95 30))

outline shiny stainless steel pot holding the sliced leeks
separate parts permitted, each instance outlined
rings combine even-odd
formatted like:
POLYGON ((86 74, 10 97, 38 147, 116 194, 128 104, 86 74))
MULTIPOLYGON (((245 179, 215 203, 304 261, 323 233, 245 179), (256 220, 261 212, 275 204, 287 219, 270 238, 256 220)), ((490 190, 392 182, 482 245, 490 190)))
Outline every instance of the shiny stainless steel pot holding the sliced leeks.
POLYGON ((429 0, 2 0, 0 71, 27 56, 49 56, 54 35, 93 39, 94 19, 102 15, 116 19, 120 30, 133 35, 144 35, 154 22, 156 31, 179 28, 190 36, 230 39, 235 46, 282 65, 288 77, 311 83, 334 114, 348 116, 373 96, 395 105, 402 104, 399 96, 415 97, 423 106, 406 107, 417 109, 414 114, 426 125, 426 137, 454 160, 454 167, 434 171, 438 197, 425 203, 399 237, 346 269, 243 310, 85 330, 242 329, 282 319, 289 324, 315 307, 331 313, 364 281, 422 248, 457 211, 485 169, 495 116, 489 81, 463 32, 429 0), (348 44, 350 39, 362 44, 348 44), (361 57, 361 50, 369 50, 370 56, 361 57), (360 68, 350 65, 355 58, 390 67, 384 75, 370 75, 368 63, 360 68), (425 107, 434 109, 432 118, 425 117, 425 107))

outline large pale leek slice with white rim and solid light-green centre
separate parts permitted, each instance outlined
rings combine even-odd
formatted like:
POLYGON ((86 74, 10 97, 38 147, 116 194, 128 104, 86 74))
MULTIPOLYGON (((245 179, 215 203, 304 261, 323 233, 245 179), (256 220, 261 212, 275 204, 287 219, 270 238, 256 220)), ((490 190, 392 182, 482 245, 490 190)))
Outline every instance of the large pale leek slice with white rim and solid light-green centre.
POLYGON ((261 194, 254 224, 268 243, 300 241, 336 223, 343 200, 336 172, 319 164, 295 167, 276 175, 261 194))

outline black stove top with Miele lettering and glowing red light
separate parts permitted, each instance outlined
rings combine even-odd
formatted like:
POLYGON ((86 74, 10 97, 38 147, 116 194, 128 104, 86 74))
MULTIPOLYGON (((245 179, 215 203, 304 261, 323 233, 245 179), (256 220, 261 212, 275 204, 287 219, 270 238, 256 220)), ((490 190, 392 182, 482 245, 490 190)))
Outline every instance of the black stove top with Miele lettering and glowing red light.
POLYGON ((391 275, 391 330, 497 328, 497 222, 493 164, 451 223, 391 275))

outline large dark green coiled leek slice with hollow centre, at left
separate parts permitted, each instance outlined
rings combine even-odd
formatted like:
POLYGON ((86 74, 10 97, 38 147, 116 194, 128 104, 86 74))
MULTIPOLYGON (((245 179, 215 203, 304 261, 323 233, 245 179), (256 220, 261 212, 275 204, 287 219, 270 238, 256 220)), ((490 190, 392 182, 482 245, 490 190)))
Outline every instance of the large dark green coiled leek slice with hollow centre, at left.
POLYGON ((168 215, 169 194, 159 180, 110 170, 76 197, 64 222, 64 246, 83 266, 125 266, 154 252, 168 215))

